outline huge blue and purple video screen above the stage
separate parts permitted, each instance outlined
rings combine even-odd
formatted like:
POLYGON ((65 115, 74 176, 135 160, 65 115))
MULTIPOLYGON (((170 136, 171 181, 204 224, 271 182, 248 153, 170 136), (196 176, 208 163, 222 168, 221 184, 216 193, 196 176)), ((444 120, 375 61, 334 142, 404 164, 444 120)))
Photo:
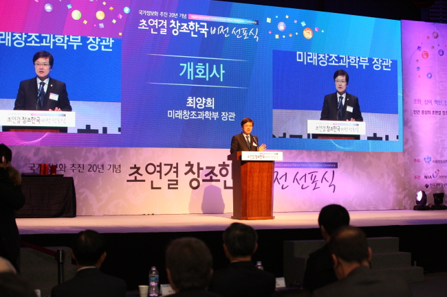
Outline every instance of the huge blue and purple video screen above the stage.
MULTIPOLYGON (((399 21, 210 0, 0 6, 6 145, 229 149, 249 117, 268 150, 403 150, 399 21), (71 112, 14 110, 20 82, 41 94, 37 51, 54 57, 71 112), (334 128, 336 81, 340 116, 356 121, 334 128)), ((47 102, 61 98, 47 88, 47 102)))

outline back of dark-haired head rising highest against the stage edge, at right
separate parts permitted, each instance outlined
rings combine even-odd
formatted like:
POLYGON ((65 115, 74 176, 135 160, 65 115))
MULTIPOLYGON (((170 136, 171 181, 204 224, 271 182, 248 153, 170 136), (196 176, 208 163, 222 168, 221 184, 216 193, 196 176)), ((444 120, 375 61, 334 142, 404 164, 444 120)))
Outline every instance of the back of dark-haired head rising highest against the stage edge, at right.
POLYGON ((318 225, 320 226, 323 238, 329 241, 335 230, 340 226, 349 225, 349 213, 345 207, 338 204, 329 204, 320 211, 318 215, 318 225))

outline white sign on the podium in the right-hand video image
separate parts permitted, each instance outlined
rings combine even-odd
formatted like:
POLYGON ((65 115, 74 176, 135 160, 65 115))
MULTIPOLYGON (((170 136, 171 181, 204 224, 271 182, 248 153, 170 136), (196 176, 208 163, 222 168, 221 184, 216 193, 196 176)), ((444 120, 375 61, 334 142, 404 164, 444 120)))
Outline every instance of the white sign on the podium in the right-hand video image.
POLYGON ((367 126, 364 121, 317 121, 307 120, 307 133, 333 135, 365 135, 367 126))

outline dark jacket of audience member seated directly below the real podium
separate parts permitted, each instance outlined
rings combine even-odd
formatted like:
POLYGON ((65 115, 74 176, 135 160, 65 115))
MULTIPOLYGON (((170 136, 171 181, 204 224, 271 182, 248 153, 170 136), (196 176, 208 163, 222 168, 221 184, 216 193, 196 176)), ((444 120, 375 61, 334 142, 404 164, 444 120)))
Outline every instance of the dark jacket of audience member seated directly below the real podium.
POLYGON ((251 261, 240 261, 215 271, 209 290, 224 297, 270 297, 275 287, 273 274, 255 268, 251 261))

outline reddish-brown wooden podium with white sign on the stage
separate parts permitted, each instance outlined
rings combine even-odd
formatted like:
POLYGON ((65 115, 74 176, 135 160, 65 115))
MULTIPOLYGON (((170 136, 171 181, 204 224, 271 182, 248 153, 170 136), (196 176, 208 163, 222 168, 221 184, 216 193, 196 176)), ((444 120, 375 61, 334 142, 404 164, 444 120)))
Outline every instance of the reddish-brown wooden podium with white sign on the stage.
POLYGON ((274 161, 282 161, 283 152, 234 152, 232 161, 232 219, 274 219, 274 161))

